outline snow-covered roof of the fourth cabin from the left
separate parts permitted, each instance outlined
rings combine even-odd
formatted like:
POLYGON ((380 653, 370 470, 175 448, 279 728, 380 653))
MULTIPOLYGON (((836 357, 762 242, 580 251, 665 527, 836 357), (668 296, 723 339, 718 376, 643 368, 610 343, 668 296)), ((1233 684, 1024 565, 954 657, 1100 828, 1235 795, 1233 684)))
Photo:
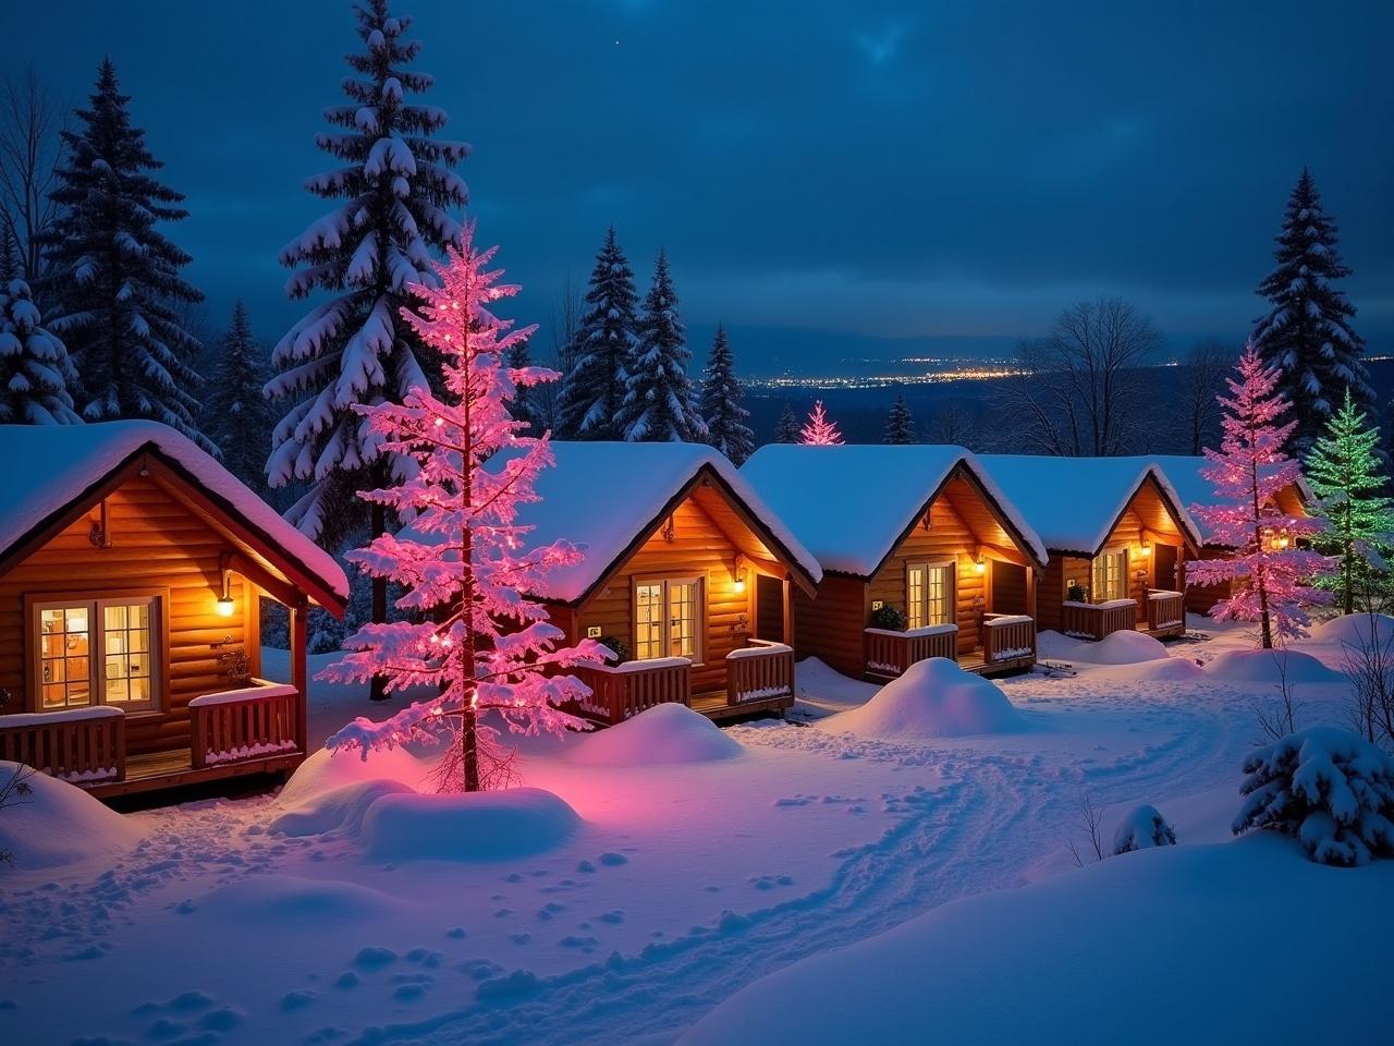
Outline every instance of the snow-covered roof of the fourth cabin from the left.
POLYGON ((1179 526, 1200 544, 1188 502, 1153 457, 983 455, 981 460, 1052 552, 1096 555, 1147 476, 1171 501, 1179 526))

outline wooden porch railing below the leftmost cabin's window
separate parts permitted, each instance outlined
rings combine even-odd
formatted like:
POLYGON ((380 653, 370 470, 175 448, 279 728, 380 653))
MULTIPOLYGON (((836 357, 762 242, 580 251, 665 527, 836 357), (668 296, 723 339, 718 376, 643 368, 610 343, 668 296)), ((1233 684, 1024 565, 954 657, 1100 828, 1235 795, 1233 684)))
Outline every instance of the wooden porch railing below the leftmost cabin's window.
POLYGON ((0 759, 77 785, 125 780, 125 713, 98 706, 0 715, 0 759))

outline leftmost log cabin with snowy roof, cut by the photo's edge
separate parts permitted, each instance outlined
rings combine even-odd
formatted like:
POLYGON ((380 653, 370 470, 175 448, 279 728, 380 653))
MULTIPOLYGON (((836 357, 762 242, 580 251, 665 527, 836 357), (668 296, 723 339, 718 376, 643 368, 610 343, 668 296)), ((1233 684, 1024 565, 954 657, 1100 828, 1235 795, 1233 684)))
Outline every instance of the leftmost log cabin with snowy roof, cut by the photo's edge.
POLYGON ((305 757, 305 615, 339 565, 153 421, 0 425, 0 759, 102 796, 305 757), (290 612, 261 672, 259 597, 290 612))

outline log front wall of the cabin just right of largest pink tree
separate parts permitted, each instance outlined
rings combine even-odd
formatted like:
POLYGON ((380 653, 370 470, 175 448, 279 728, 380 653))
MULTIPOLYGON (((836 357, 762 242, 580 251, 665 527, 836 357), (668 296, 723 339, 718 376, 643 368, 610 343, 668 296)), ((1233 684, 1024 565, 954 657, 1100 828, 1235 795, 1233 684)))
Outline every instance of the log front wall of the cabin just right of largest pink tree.
POLYGON ((576 612, 576 630, 599 628, 602 636, 620 636, 634 651, 634 584, 641 580, 700 577, 703 580, 701 658, 693 665, 693 693, 723 690, 726 654, 746 646, 751 628, 754 576, 737 593, 732 570, 740 548, 717 526, 694 498, 683 501, 668 527, 659 527, 605 587, 576 612))

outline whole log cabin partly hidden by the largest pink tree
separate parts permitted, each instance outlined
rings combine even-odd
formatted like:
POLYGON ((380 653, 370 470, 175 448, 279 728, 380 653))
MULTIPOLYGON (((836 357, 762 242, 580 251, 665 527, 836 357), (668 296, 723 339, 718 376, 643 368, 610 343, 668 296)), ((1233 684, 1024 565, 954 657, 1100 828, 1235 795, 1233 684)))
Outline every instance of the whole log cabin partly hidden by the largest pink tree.
POLYGON ((519 520, 530 540, 585 548, 542 598, 569 642, 609 640, 618 664, 580 669, 592 713, 620 722, 664 702, 712 720, 793 704, 793 594, 817 561, 722 455, 698 444, 553 442, 556 467, 519 520))

